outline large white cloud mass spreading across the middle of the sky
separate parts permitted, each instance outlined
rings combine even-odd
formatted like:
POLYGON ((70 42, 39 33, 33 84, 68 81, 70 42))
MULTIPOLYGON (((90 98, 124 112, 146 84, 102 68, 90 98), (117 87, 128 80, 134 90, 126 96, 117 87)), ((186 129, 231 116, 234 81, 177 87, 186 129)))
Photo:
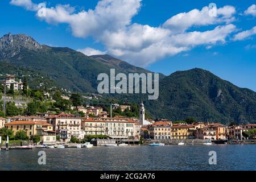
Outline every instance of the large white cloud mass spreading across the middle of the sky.
MULTIPOLYGON (((235 19, 236 9, 233 6, 217 9, 217 17, 208 15, 208 7, 194 9, 172 16, 159 27, 131 23, 131 19, 141 9, 141 1, 102 0, 94 10, 80 12, 76 12, 70 5, 57 5, 47 8, 46 17, 40 19, 51 24, 67 23, 74 36, 92 36, 97 42, 104 44, 106 52, 142 67, 196 46, 209 48, 225 43, 236 30, 236 26, 229 24, 235 19), (213 24, 217 24, 213 30, 188 31, 193 26, 213 24)), ((27 8, 30 5, 26 6, 24 3, 13 5, 32 10, 27 8)), ((106 53, 92 48, 79 51, 85 55, 106 53)))

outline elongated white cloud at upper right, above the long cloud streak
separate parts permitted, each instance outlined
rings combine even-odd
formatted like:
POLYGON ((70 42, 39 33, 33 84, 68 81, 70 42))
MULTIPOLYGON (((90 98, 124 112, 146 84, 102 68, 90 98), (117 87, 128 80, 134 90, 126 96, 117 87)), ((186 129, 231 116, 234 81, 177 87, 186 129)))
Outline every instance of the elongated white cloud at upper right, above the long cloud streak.
POLYGON ((205 6, 201 10, 193 9, 188 13, 179 13, 168 19, 163 27, 170 28, 176 32, 184 32, 192 26, 207 26, 210 24, 230 23, 234 18, 236 9, 233 6, 224 6, 217 9, 217 16, 209 16, 209 7, 205 6))

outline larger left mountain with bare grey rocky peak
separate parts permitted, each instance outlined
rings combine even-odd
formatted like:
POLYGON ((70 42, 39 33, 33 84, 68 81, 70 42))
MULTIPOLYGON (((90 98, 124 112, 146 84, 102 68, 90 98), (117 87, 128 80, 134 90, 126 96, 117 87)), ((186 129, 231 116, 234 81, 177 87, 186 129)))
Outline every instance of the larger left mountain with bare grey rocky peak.
MULTIPOLYGON (((20 72, 36 71, 55 81, 57 86, 77 92, 96 92, 98 74, 110 73, 110 68, 115 68, 116 73, 150 72, 109 55, 86 56, 67 47, 40 45, 23 34, 0 38, 0 62, 20 72)), ((0 71, 6 73, 1 68, 0 71)))

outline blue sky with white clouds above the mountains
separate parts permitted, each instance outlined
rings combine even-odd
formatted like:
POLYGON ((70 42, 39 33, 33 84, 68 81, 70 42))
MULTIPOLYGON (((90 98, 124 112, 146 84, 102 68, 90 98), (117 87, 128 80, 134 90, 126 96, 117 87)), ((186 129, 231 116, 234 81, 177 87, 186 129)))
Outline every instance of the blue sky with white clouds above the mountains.
POLYGON ((0 36, 107 53, 164 75, 207 69, 256 91, 255 0, 1 0, 0 21, 0 36))

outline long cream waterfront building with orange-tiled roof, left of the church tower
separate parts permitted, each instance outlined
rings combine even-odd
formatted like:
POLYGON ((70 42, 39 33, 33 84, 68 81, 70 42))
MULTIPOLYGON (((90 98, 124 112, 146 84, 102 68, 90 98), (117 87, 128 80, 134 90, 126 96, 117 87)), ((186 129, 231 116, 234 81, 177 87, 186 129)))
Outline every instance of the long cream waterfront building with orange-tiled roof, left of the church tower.
POLYGON ((82 121, 85 135, 108 135, 110 138, 138 139, 137 121, 129 118, 88 118, 82 121))

